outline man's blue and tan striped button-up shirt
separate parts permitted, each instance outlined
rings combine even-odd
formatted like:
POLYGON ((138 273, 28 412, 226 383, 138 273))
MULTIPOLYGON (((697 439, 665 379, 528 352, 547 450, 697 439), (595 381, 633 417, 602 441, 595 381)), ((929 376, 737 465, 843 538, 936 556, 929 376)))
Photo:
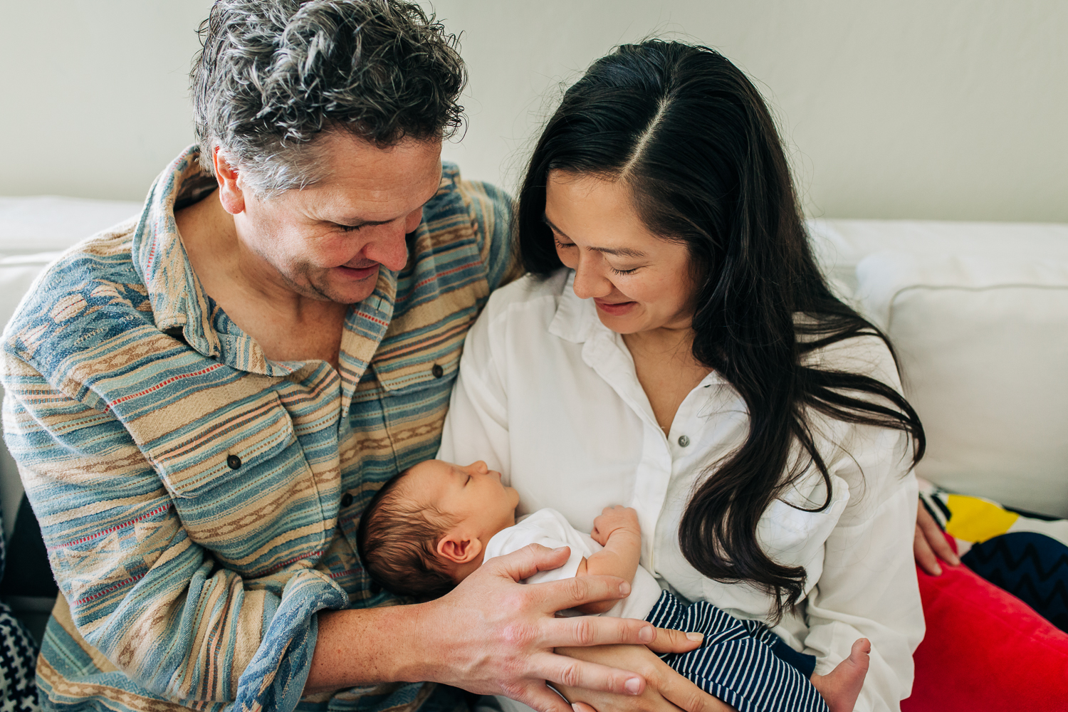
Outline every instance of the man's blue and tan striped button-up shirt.
POLYGON ((514 276, 508 200, 445 165, 407 267, 350 310, 337 373, 268 361, 200 288, 174 222, 214 187, 195 156, 4 331, 4 438, 61 590, 42 702, 412 710, 431 685, 300 700, 314 614, 396 603, 360 567, 359 516, 438 448, 467 329, 514 276))

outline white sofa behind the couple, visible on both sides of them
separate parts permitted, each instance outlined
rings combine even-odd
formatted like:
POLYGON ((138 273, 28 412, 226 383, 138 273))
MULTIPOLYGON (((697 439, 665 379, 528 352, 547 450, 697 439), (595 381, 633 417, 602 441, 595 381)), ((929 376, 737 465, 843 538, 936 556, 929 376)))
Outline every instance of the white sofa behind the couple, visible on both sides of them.
MULTIPOLYGON (((58 251, 140 209, 0 197, 0 323, 58 251)), ((1068 225, 814 220, 810 228, 834 287, 897 347, 928 434, 918 473, 1068 517, 1068 225)), ((0 450, 5 536, 20 495, 0 450)))

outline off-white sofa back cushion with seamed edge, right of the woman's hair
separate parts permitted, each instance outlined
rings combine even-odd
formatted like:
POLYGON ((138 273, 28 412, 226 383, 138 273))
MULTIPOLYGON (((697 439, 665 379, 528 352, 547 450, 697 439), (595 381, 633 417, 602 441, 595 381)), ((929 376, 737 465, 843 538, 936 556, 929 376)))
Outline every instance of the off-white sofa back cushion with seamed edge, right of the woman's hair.
POLYGON ((1068 518, 1068 260, 884 252, 857 281, 927 433, 916 473, 1068 518))

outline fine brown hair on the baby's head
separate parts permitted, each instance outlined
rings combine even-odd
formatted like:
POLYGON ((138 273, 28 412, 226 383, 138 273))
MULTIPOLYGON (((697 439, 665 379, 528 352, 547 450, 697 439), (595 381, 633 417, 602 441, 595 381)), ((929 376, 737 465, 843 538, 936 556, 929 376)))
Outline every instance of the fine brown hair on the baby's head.
POLYGON ((398 485, 407 474, 405 470, 388 480, 371 499, 360 518, 357 547, 367 573, 387 590, 438 598, 456 586, 435 555, 456 519, 406 496, 398 485))

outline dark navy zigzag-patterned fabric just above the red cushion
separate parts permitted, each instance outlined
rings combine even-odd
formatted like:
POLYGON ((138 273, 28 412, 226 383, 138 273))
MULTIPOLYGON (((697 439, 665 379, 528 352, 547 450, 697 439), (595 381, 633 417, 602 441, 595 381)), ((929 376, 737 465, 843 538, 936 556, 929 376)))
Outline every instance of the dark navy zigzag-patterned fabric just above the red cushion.
POLYGON ((961 560, 1068 632, 1068 547, 1034 532, 1010 532, 975 544, 961 560))

